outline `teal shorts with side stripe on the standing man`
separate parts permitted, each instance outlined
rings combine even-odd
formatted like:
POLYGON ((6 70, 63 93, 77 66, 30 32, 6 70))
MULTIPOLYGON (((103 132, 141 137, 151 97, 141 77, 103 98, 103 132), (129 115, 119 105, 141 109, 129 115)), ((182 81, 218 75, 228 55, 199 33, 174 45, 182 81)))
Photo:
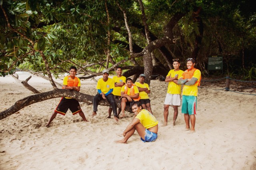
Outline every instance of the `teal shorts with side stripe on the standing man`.
POLYGON ((181 112, 189 115, 196 114, 196 96, 182 95, 181 112))

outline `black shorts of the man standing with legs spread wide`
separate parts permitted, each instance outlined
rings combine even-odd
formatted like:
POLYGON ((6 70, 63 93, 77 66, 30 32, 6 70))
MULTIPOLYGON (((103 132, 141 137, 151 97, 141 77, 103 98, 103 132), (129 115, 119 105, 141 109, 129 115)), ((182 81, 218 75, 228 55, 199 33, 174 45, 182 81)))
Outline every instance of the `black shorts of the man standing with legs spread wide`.
POLYGON ((72 112, 73 115, 82 111, 80 104, 76 99, 63 97, 61 98, 60 103, 58 104, 54 112, 65 116, 68 109, 72 112))

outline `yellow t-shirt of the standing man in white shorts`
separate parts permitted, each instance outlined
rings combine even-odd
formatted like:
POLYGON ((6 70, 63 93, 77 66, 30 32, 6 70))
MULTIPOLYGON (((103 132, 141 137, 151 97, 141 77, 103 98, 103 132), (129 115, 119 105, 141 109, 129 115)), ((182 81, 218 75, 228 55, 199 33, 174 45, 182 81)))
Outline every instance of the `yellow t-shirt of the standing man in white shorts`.
MULTIPOLYGON (((183 73, 182 70, 174 71, 174 69, 173 69, 173 70, 170 70, 168 72, 167 76, 174 77, 176 74, 178 74, 178 79, 179 79, 182 76, 182 73, 183 73)), ((169 94, 181 94, 181 85, 176 84, 173 81, 169 82, 167 93, 169 93, 169 94)))

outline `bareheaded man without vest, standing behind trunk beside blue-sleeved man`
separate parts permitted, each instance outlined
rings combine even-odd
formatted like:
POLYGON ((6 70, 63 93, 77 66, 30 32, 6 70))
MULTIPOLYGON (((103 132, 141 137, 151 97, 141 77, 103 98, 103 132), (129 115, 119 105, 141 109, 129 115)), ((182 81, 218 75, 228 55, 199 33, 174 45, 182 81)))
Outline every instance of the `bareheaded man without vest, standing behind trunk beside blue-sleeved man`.
MULTIPOLYGON (((122 76, 122 68, 121 67, 116 68, 116 76, 113 77, 113 80, 114 80, 114 85, 115 85, 114 90, 113 90, 114 98, 120 99, 121 98, 121 88, 122 88, 122 86, 124 86, 124 84, 126 82, 126 77, 122 76)), ((108 118, 111 118, 111 112, 112 112, 112 106, 109 106, 108 118)), ((118 108, 117 116, 119 116, 120 112, 121 112, 121 108, 118 108)))

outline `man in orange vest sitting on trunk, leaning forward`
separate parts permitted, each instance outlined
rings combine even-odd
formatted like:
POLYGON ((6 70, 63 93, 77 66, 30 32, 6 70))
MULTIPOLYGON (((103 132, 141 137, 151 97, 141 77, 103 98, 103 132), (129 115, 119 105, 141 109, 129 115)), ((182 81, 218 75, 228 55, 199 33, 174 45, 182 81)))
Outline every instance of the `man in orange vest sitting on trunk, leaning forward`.
POLYGON ((124 118, 124 110, 126 107, 126 104, 130 106, 130 103, 132 101, 139 101, 140 100, 140 92, 138 87, 132 83, 131 78, 126 79, 126 85, 122 86, 121 89, 121 110, 122 110, 122 115, 120 118, 124 118))

